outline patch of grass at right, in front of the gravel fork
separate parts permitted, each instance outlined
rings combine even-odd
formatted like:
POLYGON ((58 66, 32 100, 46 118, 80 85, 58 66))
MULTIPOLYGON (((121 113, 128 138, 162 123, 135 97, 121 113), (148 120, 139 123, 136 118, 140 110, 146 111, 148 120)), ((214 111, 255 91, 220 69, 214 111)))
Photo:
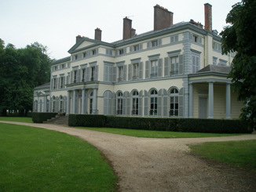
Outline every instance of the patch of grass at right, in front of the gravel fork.
POLYGON ((189 146, 192 152, 215 161, 256 172, 256 140, 207 142, 189 146))

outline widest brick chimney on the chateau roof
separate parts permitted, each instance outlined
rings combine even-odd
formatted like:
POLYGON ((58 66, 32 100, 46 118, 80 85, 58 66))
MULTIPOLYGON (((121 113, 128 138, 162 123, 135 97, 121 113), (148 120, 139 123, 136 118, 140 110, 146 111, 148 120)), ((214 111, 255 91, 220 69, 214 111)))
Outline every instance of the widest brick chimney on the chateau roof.
POLYGON ((173 25, 174 13, 160 5, 154 6, 154 31, 173 25))

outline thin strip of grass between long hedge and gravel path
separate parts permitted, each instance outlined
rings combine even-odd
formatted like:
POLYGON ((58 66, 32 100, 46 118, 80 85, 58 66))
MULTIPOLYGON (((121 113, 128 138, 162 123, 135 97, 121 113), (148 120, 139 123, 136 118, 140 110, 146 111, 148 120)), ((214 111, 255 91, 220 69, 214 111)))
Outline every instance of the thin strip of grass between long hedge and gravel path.
POLYGON ((88 128, 79 127, 80 129, 90 129, 99 132, 109 132, 124 136, 137 136, 147 138, 197 138, 213 136, 240 136, 242 134, 224 134, 224 133, 200 133, 200 132, 163 132, 136 129, 115 129, 115 128, 88 128))

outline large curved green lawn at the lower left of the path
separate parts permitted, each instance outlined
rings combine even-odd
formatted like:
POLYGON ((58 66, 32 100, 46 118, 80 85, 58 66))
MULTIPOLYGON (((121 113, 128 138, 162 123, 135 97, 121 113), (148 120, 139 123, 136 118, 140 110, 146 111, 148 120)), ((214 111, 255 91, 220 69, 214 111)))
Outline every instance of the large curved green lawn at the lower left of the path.
POLYGON ((115 191, 112 168, 74 136, 0 123, 0 191, 115 191))

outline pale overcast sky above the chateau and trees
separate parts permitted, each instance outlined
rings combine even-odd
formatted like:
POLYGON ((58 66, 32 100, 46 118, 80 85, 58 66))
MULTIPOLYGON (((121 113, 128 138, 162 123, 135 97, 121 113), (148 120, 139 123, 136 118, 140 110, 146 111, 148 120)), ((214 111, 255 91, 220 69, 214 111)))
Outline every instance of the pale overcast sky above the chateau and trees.
POLYGON ((61 59, 80 34, 94 38, 102 30, 102 41, 123 38, 123 18, 133 20, 137 34, 153 30, 153 7, 163 6, 174 13, 174 24, 195 20, 204 25, 204 3, 212 5, 213 29, 226 26, 225 18, 234 0, 0 0, 0 38, 24 48, 33 42, 48 47, 49 56, 61 59))

